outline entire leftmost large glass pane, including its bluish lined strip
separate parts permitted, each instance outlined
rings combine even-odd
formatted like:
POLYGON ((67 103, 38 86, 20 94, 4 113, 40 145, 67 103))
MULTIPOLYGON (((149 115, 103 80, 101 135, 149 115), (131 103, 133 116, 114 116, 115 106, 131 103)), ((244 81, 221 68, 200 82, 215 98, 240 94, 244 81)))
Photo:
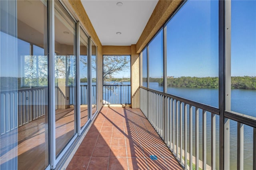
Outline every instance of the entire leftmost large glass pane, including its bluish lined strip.
POLYGON ((49 165, 47 2, 0 1, 0 7, 0 169, 44 170, 49 165))

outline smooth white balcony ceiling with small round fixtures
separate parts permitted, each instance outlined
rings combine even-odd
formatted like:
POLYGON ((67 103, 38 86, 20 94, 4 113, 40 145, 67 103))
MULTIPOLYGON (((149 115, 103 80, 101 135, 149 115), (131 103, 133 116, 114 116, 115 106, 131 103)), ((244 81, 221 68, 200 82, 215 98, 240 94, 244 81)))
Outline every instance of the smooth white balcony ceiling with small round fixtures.
POLYGON ((81 0, 102 45, 136 44, 158 0, 81 0), (122 2, 122 6, 117 6, 122 2), (117 35, 116 32, 121 32, 117 35))

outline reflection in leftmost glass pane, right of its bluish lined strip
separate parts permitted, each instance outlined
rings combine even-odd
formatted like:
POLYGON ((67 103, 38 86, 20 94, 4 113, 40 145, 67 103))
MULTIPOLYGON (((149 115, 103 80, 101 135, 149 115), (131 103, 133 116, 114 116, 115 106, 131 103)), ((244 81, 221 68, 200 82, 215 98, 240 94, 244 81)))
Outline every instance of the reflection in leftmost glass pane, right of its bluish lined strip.
POLYGON ((17 1, 18 169, 49 164, 46 1, 17 1), (40 14, 40 15, 34 15, 40 14))

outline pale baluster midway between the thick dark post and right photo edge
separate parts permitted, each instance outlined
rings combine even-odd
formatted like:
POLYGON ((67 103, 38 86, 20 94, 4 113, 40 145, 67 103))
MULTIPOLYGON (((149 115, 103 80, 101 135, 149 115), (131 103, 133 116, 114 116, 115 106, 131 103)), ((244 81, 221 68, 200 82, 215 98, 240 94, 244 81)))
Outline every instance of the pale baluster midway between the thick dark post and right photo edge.
POLYGON ((237 169, 244 169, 244 125, 237 123, 237 169))

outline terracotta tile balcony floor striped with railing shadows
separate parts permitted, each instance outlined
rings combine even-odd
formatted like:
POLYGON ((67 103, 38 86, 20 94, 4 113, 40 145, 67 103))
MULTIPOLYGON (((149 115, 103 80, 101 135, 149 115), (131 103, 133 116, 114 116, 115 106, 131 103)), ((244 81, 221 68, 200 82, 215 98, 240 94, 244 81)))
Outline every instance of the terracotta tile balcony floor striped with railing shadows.
POLYGON ((177 170, 175 160, 140 109, 103 107, 67 170, 177 170), (156 155, 158 160, 151 160, 156 155))

